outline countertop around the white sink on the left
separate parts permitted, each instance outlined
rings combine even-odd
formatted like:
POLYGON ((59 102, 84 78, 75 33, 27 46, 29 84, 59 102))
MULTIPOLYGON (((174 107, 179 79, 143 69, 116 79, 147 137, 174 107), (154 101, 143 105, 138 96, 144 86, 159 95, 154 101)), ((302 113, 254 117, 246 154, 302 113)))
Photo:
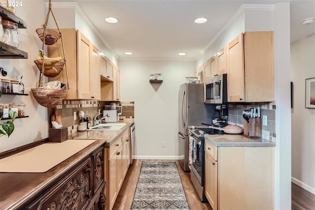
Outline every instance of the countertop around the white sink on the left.
POLYGON ((78 131, 68 135, 68 139, 95 139, 106 141, 105 147, 109 147, 117 138, 129 129, 130 125, 134 123, 134 119, 120 120, 119 123, 126 123, 124 127, 119 130, 89 130, 89 131, 78 131))

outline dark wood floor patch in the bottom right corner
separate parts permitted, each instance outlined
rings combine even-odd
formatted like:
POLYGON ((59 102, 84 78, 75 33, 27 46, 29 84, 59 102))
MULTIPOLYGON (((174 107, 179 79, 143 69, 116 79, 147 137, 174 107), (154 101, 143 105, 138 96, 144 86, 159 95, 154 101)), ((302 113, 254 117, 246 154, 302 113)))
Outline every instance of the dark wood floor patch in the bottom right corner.
POLYGON ((291 189, 292 210, 315 210, 315 195, 293 182, 291 189))

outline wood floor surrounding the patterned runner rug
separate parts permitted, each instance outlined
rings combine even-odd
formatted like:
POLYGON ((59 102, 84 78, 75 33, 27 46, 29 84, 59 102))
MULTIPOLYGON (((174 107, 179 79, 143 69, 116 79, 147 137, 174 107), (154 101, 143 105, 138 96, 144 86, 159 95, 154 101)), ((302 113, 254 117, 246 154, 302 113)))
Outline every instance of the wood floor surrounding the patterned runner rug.
POLYGON ((134 192, 136 190, 138 178, 140 175, 142 161, 176 162, 190 210, 212 210, 209 203, 201 203, 190 181, 190 174, 183 171, 178 160, 133 160, 133 163, 132 165, 130 165, 129 170, 126 174, 126 178, 118 194, 113 210, 130 210, 134 192))

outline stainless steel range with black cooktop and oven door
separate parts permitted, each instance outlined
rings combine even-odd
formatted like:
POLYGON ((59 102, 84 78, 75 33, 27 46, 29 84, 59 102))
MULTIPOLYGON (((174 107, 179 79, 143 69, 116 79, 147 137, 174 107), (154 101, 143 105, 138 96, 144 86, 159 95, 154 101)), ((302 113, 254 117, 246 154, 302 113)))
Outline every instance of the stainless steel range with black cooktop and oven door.
POLYGON ((205 138, 206 134, 216 134, 212 128, 189 128, 190 180, 202 202, 207 202, 205 186, 205 138))

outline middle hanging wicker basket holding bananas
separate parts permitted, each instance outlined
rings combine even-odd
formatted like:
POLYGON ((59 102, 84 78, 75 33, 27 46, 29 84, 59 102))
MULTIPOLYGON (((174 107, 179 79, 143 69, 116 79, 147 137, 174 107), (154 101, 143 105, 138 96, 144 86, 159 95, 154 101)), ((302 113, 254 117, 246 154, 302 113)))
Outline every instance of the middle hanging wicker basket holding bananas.
MULTIPOLYGON (((42 71, 43 60, 34 60, 39 71, 42 71)), ((61 60, 44 60, 43 74, 46 77, 56 77, 62 72, 64 62, 61 60)))

